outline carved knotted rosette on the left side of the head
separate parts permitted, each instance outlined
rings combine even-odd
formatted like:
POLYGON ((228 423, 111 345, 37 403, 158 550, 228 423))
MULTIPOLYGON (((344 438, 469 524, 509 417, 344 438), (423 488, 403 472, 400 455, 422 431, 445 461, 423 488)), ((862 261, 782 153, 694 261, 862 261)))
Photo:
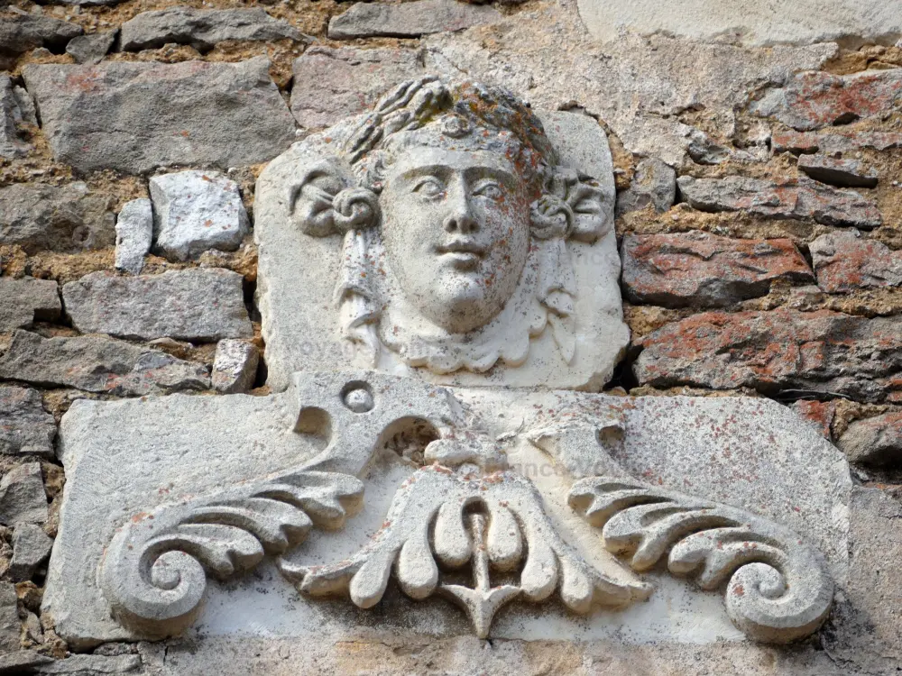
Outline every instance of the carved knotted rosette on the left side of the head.
POLYGON ((379 200, 355 186, 349 169, 337 159, 306 165, 287 188, 288 212, 302 233, 326 237, 379 223, 379 200))

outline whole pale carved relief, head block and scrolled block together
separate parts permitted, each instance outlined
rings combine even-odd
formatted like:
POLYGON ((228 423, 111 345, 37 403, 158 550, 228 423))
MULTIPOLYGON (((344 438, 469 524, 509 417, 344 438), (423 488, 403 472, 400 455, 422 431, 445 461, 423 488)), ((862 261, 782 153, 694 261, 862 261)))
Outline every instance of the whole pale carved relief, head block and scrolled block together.
POLYGON ((813 633, 848 566, 842 454, 767 400, 573 391, 627 341, 612 206, 592 118, 436 78, 274 160, 276 393, 73 404, 57 632, 813 633))

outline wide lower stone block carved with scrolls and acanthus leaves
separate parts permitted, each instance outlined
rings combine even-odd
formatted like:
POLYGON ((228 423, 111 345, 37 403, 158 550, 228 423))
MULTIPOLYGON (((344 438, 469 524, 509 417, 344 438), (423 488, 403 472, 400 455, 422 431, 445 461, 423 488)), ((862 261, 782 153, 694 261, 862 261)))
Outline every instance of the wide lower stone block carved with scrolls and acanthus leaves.
POLYGON ((784 643, 820 626, 846 567, 850 486, 839 453, 772 402, 626 402, 558 391, 514 403, 504 390, 452 392, 365 371, 297 374, 273 397, 79 401, 62 428, 70 483, 45 607, 73 644, 179 635, 207 626, 211 595, 211 604, 244 617, 223 598, 235 593, 228 580, 240 587, 248 571, 274 562, 283 580, 276 589, 290 584, 301 594, 291 625, 300 635, 323 630, 311 612, 353 629, 345 603, 389 603, 395 616, 398 591, 444 618, 427 633, 496 635, 501 622, 501 635, 528 637, 522 623, 541 603, 560 631, 593 635, 640 624, 630 608, 653 617, 660 610, 642 610, 645 603, 692 596, 668 574, 725 594, 719 611, 703 591, 704 611, 690 604, 682 620, 668 620, 676 640, 700 613, 736 627, 705 640, 784 643), (139 434, 125 431, 123 421, 139 413, 139 434), (751 413, 759 424, 724 422, 751 413), (165 438, 144 434, 161 416, 165 438), (702 429, 667 434, 667 425, 689 423, 702 429), (765 439, 774 425, 786 434, 729 462, 731 479, 708 471, 687 493, 683 481, 658 474, 674 443, 689 455, 722 455, 765 439), (143 470, 112 492, 105 484, 120 460, 109 449, 129 434, 143 470), (189 442, 198 436, 202 447, 189 442), (787 464, 794 446, 803 451, 787 464), (630 457, 649 469, 621 461, 630 457), (778 463, 790 473, 770 490, 783 498, 762 509, 743 477, 778 463), (825 469, 810 477, 808 467, 825 469), (695 497, 722 491, 723 503, 695 497), (100 523, 98 514, 106 515, 100 523), (364 532, 353 532, 358 518, 364 532), (456 628, 454 606, 468 630, 456 628))

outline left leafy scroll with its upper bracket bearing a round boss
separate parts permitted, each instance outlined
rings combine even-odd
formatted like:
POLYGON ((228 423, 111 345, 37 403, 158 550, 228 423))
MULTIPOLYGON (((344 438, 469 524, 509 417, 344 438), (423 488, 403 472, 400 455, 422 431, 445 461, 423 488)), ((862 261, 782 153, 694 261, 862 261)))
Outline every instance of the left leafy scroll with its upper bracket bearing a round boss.
POLYGON ((453 436, 463 422, 447 390, 368 371, 298 374, 287 398, 291 432, 326 448, 297 468, 131 516, 98 571, 121 624, 147 637, 179 634, 198 615, 207 575, 227 580, 300 544, 313 526, 344 525, 362 506, 355 475, 383 440, 413 424, 453 436))

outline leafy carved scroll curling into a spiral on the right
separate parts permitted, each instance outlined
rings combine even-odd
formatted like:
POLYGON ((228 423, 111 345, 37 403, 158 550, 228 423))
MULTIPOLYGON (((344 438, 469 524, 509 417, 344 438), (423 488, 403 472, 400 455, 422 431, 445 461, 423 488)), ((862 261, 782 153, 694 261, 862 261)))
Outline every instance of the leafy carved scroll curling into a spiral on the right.
POLYGON ((603 527, 604 545, 648 571, 669 550, 667 569, 702 589, 728 580, 727 614, 766 643, 812 634, 833 602, 833 580, 814 547, 788 528, 741 509, 651 489, 629 480, 577 481, 570 504, 603 527))

